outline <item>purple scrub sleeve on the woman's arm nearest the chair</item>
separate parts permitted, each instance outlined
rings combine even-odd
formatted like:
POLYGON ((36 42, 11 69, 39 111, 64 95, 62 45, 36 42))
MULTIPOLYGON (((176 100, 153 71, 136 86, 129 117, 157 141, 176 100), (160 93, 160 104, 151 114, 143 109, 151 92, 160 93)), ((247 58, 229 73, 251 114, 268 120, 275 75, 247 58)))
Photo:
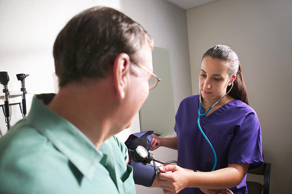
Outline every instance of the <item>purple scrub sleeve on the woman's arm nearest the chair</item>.
POLYGON ((250 164, 250 169, 263 165, 262 133, 255 112, 246 115, 234 133, 228 153, 228 164, 250 164))

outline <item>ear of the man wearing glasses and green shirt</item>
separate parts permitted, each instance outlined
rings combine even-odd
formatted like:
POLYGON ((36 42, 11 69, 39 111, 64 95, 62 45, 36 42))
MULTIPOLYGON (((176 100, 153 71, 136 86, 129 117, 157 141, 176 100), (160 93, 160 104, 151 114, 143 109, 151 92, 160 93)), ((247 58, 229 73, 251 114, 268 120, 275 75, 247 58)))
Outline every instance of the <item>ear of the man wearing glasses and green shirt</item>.
POLYGON ((120 53, 114 60, 114 86, 119 99, 123 99, 125 97, 129 78, 127 75, 131 72, 131 64, 130 56, 127 53, 120 53))

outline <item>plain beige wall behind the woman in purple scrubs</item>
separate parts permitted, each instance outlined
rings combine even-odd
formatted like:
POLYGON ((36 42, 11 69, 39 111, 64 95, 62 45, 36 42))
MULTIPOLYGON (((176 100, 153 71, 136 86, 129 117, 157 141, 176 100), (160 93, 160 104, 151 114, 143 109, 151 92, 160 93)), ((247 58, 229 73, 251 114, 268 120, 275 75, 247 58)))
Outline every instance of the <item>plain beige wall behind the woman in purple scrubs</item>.
POLYGON ((217 44, 234 48, 260 119, 265 162, 272 163, 270 193, 292 189, 291 8, 291 0, 220 0, 187 10, 192 93, 204 52, 217 44))

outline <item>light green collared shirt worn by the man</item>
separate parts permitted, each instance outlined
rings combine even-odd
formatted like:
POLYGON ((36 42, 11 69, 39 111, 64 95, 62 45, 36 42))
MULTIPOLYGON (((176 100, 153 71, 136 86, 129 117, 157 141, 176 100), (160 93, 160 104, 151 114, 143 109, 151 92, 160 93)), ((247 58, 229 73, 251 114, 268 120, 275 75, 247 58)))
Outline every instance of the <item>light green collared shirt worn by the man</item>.
POLYGON ((127 157, 117 137, 97 150, 34 96, 29 115, 0 138, 0 193, 136 193, 127 157))

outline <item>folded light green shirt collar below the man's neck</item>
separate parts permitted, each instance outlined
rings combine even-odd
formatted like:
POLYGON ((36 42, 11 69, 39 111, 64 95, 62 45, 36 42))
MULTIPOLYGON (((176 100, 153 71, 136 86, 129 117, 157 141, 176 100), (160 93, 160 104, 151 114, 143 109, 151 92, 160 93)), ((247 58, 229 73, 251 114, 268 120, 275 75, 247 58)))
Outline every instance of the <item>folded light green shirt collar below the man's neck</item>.
MULTIPOLYGON (((42 94, 53 95, 53 94, 42 94)), ((71 122, 59 116, 46 105, 33 97, 27 119, 40 133, 62 152, 75 167, 91 180, 103 153, 71 122)))

